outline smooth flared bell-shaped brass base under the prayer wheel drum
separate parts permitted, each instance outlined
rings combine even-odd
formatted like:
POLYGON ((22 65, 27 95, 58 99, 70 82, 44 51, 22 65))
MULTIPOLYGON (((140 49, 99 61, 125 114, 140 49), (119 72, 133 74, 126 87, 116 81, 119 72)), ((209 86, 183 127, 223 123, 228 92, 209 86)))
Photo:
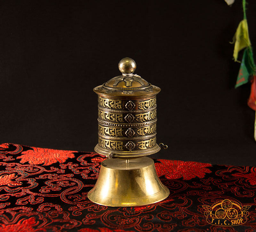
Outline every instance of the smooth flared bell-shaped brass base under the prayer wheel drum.
POLYGON ((167 198, 170 191, 159 180, 148 157, 102 161, 99 178, 88 198, 114 207, 145 206, 167 198))

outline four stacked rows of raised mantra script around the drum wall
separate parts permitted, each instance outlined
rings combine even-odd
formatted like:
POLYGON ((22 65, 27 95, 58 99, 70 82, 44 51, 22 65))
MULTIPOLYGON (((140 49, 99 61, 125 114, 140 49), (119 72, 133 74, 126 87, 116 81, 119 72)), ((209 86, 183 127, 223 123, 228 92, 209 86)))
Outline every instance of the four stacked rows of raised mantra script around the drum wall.
POLYGON ((99 146, 116 151, 156 146, 156 97, 114 100, 98 97, 99 146))

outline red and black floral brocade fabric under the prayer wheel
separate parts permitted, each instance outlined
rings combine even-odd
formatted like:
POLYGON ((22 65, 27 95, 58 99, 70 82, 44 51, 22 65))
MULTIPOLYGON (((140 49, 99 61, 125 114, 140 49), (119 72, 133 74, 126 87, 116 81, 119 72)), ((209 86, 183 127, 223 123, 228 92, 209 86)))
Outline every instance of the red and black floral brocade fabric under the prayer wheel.
POLYGON ((115 208, 87 198, 104 159, 97 153, 1 144, 0 231, 256 231, 255 167, 155 160, 170 196, 153 205, 115 208), (223 199, 251 205, 248 221, 208 224, 203 205, 223 199))

